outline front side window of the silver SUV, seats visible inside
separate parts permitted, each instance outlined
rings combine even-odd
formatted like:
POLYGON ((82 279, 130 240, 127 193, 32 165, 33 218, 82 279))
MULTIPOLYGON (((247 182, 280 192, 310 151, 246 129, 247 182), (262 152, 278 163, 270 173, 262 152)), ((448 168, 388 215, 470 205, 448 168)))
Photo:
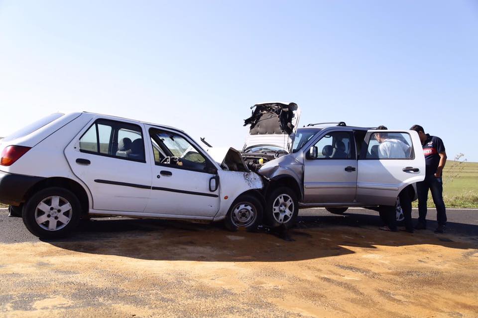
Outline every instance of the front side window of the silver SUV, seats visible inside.
POLYGON ((352 143, 349 132, 331 132, 314 145, 317 147, 317 159, 355 159, 352 143))

